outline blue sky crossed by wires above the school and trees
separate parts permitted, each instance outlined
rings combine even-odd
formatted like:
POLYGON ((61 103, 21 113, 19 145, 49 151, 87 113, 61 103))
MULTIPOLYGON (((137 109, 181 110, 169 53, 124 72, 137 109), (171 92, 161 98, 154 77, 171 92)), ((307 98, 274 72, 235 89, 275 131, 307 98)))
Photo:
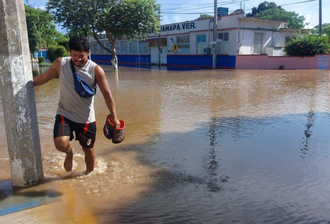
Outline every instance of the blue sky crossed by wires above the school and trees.
MULTIPOLYGON (((88 0, 86 0, 88 1, 88 0)), ((236 9, 240 9, 240 2, 242 0, 234 0, 230 4, 222 5, 221 7, 227 7, 229 8, 229 11, 234 11, 236 9)), ((249 13, 249 9, 252 9, 254 6, 258 6, 261 2, 264 0, 245 0, 242 1, 242 8, 245 4, 245 10, 246 13, 249 13)), ((268 2, 275 2, 277 5, 284 5, 288 3, 295 3, 295 2, 301 2, 306 0, 270 0, 268 2)), ((38 7, 40 9, 45 9, 47 1, 41 1, 41 0, 29 0, 29 4, 33 5, 33 7, 38 7)), ((178 13, 209 13, 213 11, 212 4, 214 3, 213 0, 192 0, 192 1, 184 1, 184 0, 158 0, 158 3, 162 4, 161 10, 163 12, 174 12, 178 10, 186 10, 187 11, 181 11, 178 13), (178 4, 178 5, 164 5, 164 4, 178 4), (205 5, 203 7, 193 6, 193 5, 187 5, 187 4, 210 4, 205 5), (206 8, 209 7, 209 8, 206 8), (191 8, 202 8, 202 9, 194 9, 191 8), (167 10, 169 9, 169 10, 167 10)), ((218 0, 219 4, 224 4, 220 2, 226 2, 228 3, 229 0, 218 0)), ((306 20, 305 22, 311 23, 308 27, 305 28, 311 28, 315 25, 318 25, 318 1, 312 1, 312 2, 306 2, 306 3, 300 3, 295 5, 289 5, 289 6, 282 6, 283 9, 286 11, 295 11, 299 15, 304 15, 306 20)), ((330 0, 323 0, 322 1, 322 23, 330 23, 330 14, 327 13, 330 10, 330 0)), ((176 22, 183 22, 187 20, 193 20, 197 18, 199 14, 165 14, 162 13, 162 21, 161 24, 169 24, 169 23, 176 23, 176 22)), ((60 32, 63 32, 64 30, 56 24, 56 29, 60 32)), ((65 31, 64 31, 65 33, 65 31)))

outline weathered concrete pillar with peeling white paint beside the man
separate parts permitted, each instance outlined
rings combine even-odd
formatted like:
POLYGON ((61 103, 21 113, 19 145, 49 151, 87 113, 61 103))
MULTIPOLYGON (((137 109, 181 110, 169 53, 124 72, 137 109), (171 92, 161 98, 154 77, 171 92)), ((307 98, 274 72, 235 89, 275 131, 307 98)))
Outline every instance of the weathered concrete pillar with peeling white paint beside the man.
POLYGON ((14 186, 43 178, 23 0, 0 0, 0 90, 14 186))

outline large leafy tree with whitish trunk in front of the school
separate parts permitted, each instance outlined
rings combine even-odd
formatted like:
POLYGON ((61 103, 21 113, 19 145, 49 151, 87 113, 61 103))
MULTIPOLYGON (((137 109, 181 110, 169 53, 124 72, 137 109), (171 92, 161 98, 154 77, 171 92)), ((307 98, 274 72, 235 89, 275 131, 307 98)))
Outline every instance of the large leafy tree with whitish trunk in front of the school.
POLYGON ((149 34, 160 29, 158 9, 160 5, 155 0, 49 0, 47 9, 55 18, 56 23, 62 23, 71 31, 91 34, 99 45, 112 54, 111 63, 117 69, 115 42, 127 37, 130 41, 135 37, 142 40, 149 34), (106 33, 111 47, 106 47, 99 40, 99 34, 106 33))

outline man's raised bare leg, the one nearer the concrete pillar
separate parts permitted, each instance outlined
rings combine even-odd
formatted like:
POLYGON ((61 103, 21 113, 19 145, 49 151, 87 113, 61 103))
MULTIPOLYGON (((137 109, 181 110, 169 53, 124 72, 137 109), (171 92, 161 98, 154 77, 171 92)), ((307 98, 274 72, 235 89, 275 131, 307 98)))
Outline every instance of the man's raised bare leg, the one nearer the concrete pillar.
POLYGON ((60 136, 54 138, 55 147, 58 151, 66 154, 63 167, 66 172, 72 171, 74 150, 69 144, 70 136, 60 136))

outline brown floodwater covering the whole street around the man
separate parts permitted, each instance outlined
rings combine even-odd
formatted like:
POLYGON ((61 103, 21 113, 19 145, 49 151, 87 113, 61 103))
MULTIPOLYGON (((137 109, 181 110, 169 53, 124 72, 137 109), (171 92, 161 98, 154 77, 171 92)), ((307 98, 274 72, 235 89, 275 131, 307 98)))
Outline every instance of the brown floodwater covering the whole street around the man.
MULTIPOLYGON (((126 136, 120 144, 104 137, 109 111, 98 91, 96 168, 87 176, 78 142, 70 173, 53 145, 58 79, 35 87, 45 181, 24 191, 59 192, 49 215, 88 223, 329 223, 329 70, 102 67, 126 136)), ((0 134, 0 180, 10 180, 4 128, 0 134)))

